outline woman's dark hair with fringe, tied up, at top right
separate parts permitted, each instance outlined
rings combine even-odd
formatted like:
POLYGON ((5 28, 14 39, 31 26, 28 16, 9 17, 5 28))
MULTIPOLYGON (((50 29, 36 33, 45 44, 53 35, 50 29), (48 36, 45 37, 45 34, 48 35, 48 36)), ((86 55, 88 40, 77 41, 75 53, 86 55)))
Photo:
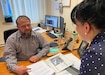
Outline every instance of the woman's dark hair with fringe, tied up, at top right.
POLYGON ((105 29, 105 0, 84 0, 74 7, 71 12, 71 20, 81 23, 88 22, 98 29, 105 29))

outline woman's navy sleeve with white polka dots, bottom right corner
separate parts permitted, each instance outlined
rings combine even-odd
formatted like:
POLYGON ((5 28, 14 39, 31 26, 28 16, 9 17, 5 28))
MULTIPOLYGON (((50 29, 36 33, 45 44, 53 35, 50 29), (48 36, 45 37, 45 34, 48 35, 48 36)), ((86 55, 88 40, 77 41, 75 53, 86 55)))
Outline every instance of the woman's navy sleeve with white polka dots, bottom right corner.
POLYGON ((81 60, 79 75, 105 75, 105 59, 95 51, 88 51, 81 60))

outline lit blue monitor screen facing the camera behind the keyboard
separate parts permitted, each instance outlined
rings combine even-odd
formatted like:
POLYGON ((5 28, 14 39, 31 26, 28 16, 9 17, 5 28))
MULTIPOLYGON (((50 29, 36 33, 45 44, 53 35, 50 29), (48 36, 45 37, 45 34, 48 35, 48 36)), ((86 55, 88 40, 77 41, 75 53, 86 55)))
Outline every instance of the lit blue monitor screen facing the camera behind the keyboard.
POLYGON ((45 25, 58 28, 58 16, 45 15, 45 25))

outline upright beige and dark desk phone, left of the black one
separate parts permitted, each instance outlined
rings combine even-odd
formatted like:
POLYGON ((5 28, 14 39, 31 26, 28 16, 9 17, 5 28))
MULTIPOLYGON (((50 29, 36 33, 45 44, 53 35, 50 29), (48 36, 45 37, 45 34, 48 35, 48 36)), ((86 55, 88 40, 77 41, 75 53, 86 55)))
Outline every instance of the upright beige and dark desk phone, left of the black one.
POLYGON ((69 40, 67 40, 67 42, 65 42, 62 50, 73 50, 73 44, 74 43, 74 40, 73 38, 69 38, 69 40))

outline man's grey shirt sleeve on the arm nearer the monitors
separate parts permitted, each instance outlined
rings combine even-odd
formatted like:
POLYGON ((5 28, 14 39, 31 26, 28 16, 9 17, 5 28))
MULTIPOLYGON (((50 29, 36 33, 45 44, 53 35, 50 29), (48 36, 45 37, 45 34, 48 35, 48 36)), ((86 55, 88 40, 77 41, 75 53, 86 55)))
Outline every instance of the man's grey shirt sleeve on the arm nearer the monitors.
POLYGON ((41 47, 41 50, 37 54, 38 58, 40 59, 41 57, 45 56, 49 52, 50 45, 40 33, 37 33, 37 38, 41 47))

